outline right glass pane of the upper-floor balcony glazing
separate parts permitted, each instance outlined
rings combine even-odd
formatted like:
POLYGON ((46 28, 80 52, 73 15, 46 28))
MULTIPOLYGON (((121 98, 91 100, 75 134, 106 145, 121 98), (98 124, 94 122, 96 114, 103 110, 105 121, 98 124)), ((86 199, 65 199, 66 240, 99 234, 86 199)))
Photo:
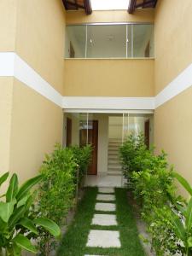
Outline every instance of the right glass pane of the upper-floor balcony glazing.
POLYGON ((154 57, 154 26, 133 26, 133 57, 154 57))

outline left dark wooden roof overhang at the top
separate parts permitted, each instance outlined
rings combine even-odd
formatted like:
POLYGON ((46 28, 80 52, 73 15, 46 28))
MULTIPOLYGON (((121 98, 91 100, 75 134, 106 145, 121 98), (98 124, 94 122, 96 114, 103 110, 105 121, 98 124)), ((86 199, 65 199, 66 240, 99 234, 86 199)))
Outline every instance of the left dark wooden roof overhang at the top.
POLYGON ((86 15, 92 13, 90 0, 62 0, 66 10, 84 9, 86 15))

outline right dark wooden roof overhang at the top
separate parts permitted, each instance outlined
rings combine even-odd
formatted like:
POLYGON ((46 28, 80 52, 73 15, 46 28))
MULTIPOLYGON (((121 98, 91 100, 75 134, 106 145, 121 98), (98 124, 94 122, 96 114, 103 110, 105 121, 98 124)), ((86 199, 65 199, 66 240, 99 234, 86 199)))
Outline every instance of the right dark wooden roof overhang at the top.
POLYGON ((133 14, 136 9, 155 8, 158 0, 130 0, 128 12, 133 14))

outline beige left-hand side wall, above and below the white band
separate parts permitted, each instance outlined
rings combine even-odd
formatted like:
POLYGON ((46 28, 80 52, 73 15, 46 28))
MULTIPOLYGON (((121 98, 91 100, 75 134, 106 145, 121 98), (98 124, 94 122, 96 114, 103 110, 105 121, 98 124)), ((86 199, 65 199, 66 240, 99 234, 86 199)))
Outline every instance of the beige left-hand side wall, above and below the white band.
MULTIPOLYGON (((59 92, 64 85, 65 11, 61 0, 0 1, 0 51, 15 51, 59 92)), ((62 141, 61 108, 14 78, 0 78, 0 174, 38 173, 62 141), (2 125, 3 124, 3 125, 2 125)))

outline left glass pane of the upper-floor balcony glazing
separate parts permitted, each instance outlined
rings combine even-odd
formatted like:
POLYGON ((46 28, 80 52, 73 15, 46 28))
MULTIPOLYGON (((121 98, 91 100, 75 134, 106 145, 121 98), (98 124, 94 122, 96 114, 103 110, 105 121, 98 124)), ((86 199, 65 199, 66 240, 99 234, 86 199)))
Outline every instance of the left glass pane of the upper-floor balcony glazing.
POLYGON ((67 26, 66 28, 66 58, 84 58, 86 41, 86 26, 67 26))

